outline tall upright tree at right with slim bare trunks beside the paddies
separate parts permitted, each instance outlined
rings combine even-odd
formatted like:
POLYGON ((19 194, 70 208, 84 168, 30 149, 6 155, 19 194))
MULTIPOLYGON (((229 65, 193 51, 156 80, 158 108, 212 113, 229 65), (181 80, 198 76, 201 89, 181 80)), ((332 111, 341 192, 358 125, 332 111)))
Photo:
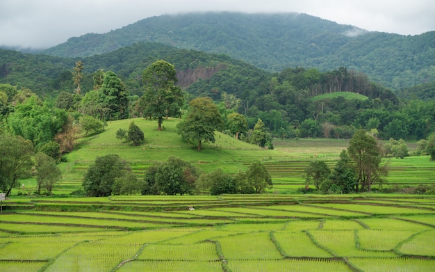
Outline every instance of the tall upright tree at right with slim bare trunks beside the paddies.
POLYGON ((386 175, 385 168, 381 168, 381 150, 377 145, 375 138, 366 133, 365 130, 359 129, 350 139, 347 152, 354 161, 358 183, 356 192, 365 189, 371 191, 371 186, 375 182, 381 182, 381 175, 386 175))

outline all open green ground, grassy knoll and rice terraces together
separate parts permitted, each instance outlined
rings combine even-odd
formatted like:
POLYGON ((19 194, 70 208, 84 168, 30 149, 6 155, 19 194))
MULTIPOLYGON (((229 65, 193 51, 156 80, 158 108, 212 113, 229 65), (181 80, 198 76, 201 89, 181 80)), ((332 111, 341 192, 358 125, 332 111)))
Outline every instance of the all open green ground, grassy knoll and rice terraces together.
MULTIPOLYGON (((433 271, 435 195, 298 194, 309 161, 334 167, 348 140, 274 140, 274 150, 216 133, 197 152, 176 134, 179 120, 133 119, 145 145, 115 138, 132 120, 81 138, 60 163, 54 195, 35 197, 23 179, 0 214, 0 271, 433 271), (274 183, 262 195, 126 195, 78 198, 98 156, 119 154, 141 179, 176 156, 204 172, 235 174, 260 160, 274 183), (193 207, 194 209, 190 209, 193 207)), ((434 184, 428 157, 384 159, 394 186, 434 184)))

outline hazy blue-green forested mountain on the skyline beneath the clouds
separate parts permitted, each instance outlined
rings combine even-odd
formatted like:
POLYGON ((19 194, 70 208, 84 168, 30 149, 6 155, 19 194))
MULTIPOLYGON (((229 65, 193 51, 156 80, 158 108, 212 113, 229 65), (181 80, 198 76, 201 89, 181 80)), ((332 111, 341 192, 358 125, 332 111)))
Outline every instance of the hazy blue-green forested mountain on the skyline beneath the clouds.
POLYGON ((108 33, 70 38, 44 54, 83 58, 144 41, 227 54, 270 72, 343 66, 395 89, 435 80, 435 31, 414 36, 369 32, 299 13, 149 17, 108 33))

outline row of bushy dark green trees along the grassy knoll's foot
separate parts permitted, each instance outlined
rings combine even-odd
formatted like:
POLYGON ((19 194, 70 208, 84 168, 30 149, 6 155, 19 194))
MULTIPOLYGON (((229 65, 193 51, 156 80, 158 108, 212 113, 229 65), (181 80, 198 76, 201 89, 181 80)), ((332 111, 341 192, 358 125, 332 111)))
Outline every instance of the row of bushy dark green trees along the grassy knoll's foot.
MULTIPOLYGON (((222 193, 264 193, 272 188, 272 178, 263 163, 255 161, 245 172, 235 176, 219 168, 201 173, 187 161, 169 157, 147 168, 145 177, 131 173, 129 163, 117 154, 97 157, 83 177, 83 193, 108 195, 220 195, 222 193)), ((76 192, 80 193, 80 192, 76 192)))

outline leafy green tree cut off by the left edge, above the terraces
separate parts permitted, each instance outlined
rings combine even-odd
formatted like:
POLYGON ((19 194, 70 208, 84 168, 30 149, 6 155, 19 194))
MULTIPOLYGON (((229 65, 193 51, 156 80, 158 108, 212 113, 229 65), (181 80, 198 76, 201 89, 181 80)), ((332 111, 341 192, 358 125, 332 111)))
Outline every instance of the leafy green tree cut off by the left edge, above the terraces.
POLYGON ((0 134, 0 190, 10 195, 33 166, 33 144, 21 136, 0 134))

